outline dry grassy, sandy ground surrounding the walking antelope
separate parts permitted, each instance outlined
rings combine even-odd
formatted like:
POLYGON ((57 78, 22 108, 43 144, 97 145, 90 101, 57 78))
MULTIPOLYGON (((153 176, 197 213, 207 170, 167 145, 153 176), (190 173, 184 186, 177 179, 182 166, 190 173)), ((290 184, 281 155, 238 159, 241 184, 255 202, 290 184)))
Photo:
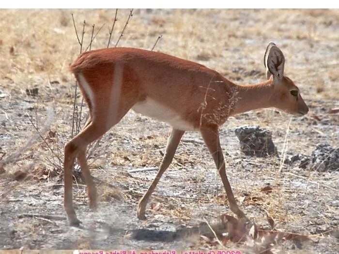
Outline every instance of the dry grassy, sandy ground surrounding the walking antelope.
MULTIPOLYGON (((83 50, 92 24, 94 35, 105 24, 92 48, 107 47, 115 10, 0 11, 0 248, 222 248, 200 234, 179 233, 223 213, 231 215, 199 133, 185 133, 151 197, 147 220, 137 219, 137 202, 156 170, 129 171, 159 165, 169 126, 133 111, 90 152, 101 197, 98 210, 88 208, 76 171, 74 200, 82 227, 46 217, 65 217, 62 151, 71 138, 75 91, 68 66, 80 52, 71 13, 80 40, 86 20, 83 50), (35 96, 26 91, 34 88, 35 96)), ((118 10, 110 46, 115 46, 128 15, 129 10, 118 10)), ((338 147, 339 115, 328 113, 339 107, 338 31, 339 10, 134 10, 118 44, 151 49, 162 35, 154 50, 197 61, 239 84, 263 81, 266 45, 274 41, 280 47, 285 74, 299 87, 308 115, 258 110, 232 117, 220 128, 227 174, 247 217, 267 227, 268 214, 277 229, 311 239, 302 245, 280 242, 276 252, 338 251, 338 171, 282 163, 286 154, 310 155, 320 142, 338 147), (279 157, 242 154, 234 129, 244 124, 271 130, 279 157), (263 194, 267 185, 272 193, 263 194)), ((80 104, 78 95, 78 109, 80 104)), ((86 112, 84 106, 84 116, 86 112)), ((243 243, 228 241, 225 246, 254 252, 243 243)))

